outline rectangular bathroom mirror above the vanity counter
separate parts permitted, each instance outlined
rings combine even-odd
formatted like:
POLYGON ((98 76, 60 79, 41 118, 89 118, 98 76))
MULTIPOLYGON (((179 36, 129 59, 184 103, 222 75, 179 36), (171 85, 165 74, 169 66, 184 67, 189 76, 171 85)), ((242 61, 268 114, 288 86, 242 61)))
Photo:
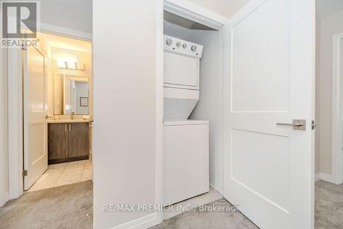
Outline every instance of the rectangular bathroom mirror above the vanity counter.
POLYGON ((54 75, 54 114, 88 115, 88 77, 54 75))

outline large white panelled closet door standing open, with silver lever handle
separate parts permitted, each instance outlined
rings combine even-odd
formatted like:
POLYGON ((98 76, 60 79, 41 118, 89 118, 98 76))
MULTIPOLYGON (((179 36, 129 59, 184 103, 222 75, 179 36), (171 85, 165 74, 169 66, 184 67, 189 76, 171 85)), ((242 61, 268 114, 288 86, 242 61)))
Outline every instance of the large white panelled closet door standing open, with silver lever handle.
POLYGON ((314 4, 251 0, 225 29, 224 197, 263 229, 313 228, 314 4))

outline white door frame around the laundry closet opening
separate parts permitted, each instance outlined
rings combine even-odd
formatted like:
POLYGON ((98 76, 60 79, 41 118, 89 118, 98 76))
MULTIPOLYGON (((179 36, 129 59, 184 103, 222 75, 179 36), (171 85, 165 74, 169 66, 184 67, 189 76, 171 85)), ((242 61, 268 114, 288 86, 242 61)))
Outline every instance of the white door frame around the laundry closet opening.
MULTIPOLYGON (((161 4, 162 5, 162 4, 161 4)), ((218 80, 218 127, 219 129, 219 179, 218 184, 210 181, 210 185, 223 192, 223 112, 224 112, 224 25, 228 19, 206 10, 189 1, 164 0, 163 6, 157 8, 157 42, 156 42, 156 204, 163 204, 163 10, 196 21, 219 31, 220 49, 219 54, 219 76, 218 80)), ((157 223, 163 221, 163 212, 157 212, 157 223)))

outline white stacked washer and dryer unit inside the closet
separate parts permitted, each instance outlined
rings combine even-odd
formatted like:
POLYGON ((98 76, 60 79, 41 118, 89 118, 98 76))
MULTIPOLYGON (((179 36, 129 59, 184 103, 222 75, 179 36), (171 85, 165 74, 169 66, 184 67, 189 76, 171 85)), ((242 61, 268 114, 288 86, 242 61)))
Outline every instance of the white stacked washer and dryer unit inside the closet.
POLYGON ((209 121, 188 119, 199 101, 202 48, 164 36, 164 204, 209 191, 209 121))

